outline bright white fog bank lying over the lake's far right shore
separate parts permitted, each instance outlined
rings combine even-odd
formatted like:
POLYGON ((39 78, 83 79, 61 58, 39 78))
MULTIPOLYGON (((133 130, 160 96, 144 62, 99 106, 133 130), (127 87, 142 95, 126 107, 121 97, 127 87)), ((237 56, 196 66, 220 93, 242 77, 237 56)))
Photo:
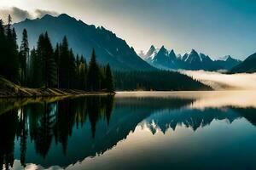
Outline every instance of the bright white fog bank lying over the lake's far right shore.
POLYGON ((255 90, 256 73, 225 74, 217 71, 180 71, 216 90, 255 90))

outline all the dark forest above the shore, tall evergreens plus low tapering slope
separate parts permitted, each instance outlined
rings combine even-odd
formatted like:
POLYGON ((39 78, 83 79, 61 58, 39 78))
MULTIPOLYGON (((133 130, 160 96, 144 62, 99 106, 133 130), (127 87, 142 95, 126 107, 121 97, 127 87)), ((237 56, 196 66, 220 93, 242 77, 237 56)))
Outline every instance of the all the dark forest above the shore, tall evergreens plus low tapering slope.
POLYGON ((0 76, 20 87, 88 92, 212 89, 174 71, 112 71, 109 64, 98 64, 95 49, 87 64, 83 55, 74 54, 66 36, 53 47, 47 31, 39 35, 36 47, 30 49, 29 32, 24 29, 19 47, 10 15, 8 19, 7 25, 0 20, 0 76))

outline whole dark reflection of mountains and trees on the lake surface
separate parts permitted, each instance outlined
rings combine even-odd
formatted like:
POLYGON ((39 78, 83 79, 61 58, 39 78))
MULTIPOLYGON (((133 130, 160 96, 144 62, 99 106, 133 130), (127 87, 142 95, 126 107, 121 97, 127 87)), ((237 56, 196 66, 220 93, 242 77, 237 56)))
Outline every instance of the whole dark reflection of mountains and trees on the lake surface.
POLYGON ((6 169, 15 160, 23 167, 27 163, 67 167, 112 149, 143 123, 153 134, 177 126, 196 131, 213 120, 232 123, 245 118, 256 125, 253 107, 193 109, 193 98, 109 95, 9 102, 0 105, 0 166, 6 169))

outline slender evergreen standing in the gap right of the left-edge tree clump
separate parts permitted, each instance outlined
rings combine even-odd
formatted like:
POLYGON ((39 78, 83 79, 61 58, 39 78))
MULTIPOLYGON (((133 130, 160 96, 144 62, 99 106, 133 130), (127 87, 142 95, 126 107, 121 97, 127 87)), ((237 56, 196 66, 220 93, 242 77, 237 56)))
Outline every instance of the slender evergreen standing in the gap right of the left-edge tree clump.
POLYGON ((27 82, 27 62, 29 58, 29 46, 26 29, 23 30, 20 43, 20 84, 26 85, 27 82))

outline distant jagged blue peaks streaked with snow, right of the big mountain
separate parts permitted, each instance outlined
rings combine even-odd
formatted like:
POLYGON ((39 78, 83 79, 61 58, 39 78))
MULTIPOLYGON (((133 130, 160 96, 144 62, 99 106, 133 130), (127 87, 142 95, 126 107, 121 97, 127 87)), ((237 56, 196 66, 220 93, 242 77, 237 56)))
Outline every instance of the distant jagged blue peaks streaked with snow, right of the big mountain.
POLYGON ((205 71, 230 71, 241 60, 233 59, 230 55, 223 59, 212 60, 208 55, 201 54, 192 49, 189 54, 177 55, 174 50, 168 51, 164 46, 157 49, 152 45, 146 54, 140 56, 154 67, 165 70, 205 70, 205 71))

